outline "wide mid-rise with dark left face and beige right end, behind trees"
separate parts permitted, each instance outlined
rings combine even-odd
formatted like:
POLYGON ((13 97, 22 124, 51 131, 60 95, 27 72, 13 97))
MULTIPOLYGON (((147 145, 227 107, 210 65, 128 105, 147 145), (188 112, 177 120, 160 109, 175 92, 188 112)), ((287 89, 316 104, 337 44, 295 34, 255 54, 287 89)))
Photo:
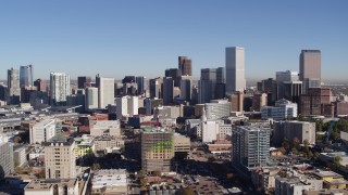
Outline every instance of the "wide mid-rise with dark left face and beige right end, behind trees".
POLYGON ((297 120, 274 122, 274 134, 272 138, 274 145, 281 146, 284 139, 293 142, 295 138, 300 143, 307 140, 309 144, 315 144, 315 122, 297 120))

